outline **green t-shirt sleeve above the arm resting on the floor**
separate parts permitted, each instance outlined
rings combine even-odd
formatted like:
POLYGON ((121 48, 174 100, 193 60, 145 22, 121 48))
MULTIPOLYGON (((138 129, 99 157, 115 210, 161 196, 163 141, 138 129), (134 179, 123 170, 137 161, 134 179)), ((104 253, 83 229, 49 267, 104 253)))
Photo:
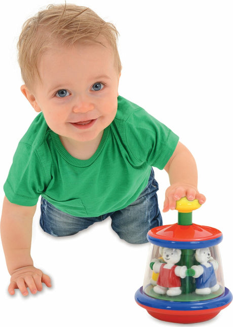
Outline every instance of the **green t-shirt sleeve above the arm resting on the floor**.
POLYGON ((4 185, 8 200, 24 206, 35 205, 46 188, 47 180, 38 151, 30 144, 20 142, 4 185))

